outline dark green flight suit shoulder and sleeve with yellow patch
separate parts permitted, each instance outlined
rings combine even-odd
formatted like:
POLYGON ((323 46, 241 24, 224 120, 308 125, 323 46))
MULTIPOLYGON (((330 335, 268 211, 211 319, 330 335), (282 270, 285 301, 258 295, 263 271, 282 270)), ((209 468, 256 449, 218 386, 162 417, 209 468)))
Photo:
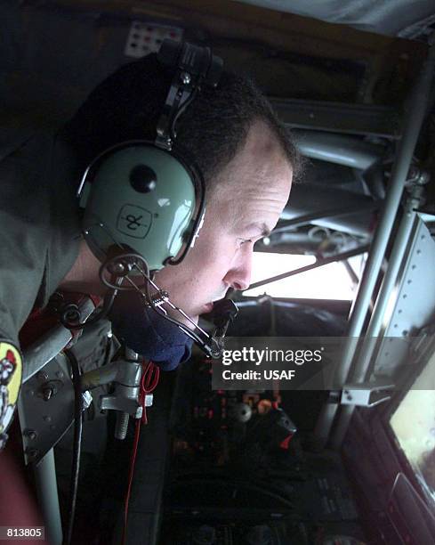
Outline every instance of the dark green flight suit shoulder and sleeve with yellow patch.
POLYGON ((0 157, 0 447, 20 391, 19 332, 74 264, 80 225, 74 156, 35 134, 0 157))

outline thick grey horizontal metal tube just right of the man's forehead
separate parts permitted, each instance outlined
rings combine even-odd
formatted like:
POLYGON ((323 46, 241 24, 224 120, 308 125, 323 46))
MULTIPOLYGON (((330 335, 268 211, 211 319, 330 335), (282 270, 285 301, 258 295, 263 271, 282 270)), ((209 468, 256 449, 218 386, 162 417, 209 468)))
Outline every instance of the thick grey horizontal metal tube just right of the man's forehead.
POLYGON ((293 134, 298 149, 305 157, 345 167, 367 170, 384 154, 383 146, 364 142, 354 136, 298 129, 293 129, 293 134))

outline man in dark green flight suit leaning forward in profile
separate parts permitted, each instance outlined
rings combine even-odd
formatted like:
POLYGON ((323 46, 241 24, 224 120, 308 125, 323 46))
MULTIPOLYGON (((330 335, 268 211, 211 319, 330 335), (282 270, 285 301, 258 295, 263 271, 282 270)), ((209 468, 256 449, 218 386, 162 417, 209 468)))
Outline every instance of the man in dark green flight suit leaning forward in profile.
MULTIPOLYGON (((104 293, 100 262, 81 239, 77 186, 102 151, 119 142, 154 140, 172 78, 173 69, 154 54, 126 65, 93 91, 53 141, 29 139, 0 164, 0 246, 7 256, 0 278, 0 339, 17 359, 18 334, 34 305, 44 307, 56 289, 104 293)), ((246 78, 228 72, 181 115, 177 143, 204 175, 205 224, 185 260, 159 271, 156 281, 197 321, 227 289, 249 285, 254 242, 278 222, 299 159, 269 102, 246 78)), ((112 315, 115 321, 121 316, 125 330, 141 328, 143 315, 131 314, 120 306, 112 315)), ((147 331, 132 346, 145 355, 147 338, 156 344, 167 333, 152 338, 147 331)), ((164 352, 169 339, 161 343, 164 352)), ((164 356, 160 361, 173 369, 185 356, 182 349, 166 367, 164 356)))

